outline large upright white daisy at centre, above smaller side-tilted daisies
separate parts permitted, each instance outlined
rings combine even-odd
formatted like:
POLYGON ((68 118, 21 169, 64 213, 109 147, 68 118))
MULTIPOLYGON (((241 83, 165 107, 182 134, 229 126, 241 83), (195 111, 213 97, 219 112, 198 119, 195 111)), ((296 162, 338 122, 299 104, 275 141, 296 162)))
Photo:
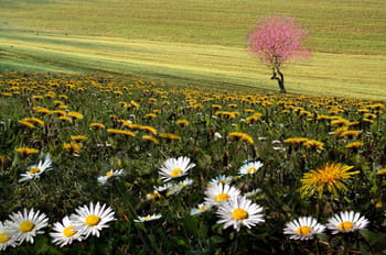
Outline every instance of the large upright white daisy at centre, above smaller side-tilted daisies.
POLYGON ((169 158, 163 165, 160 167, 159 174, 160 179, 163 181, 171 180, 173 178, 178 178, 186 175, 186 171, 193 167, 195 167, 194 163, 190 163, 191 159, 189 157, 179 157, 179 158, 169 158))

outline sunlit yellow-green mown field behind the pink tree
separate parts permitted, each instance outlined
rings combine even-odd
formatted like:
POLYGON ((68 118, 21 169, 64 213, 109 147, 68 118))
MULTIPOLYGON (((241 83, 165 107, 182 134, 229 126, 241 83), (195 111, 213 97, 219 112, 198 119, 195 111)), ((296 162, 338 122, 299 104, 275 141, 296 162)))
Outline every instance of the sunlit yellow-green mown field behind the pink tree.
POLYGON ((124 73, 168 82, 277 90, 246 37, 270 14, 309 31, 290 92, 386 99, 386 4, 308 1, 0 1, 1 69, 124 73))

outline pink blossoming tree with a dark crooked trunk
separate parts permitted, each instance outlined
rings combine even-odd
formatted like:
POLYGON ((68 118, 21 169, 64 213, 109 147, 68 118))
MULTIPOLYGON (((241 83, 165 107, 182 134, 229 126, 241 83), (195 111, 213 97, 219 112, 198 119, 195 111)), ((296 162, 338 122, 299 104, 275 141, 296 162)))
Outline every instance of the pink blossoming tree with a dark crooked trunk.
POLYGON ((280 92, 286 92, 281 67, 292 59, 310 56, 310 52, 304 48, 307 38, 307 32, 289 16, 266 18, 249 34, 249 54, 272 69, 271 79, 278 81, 280 92))

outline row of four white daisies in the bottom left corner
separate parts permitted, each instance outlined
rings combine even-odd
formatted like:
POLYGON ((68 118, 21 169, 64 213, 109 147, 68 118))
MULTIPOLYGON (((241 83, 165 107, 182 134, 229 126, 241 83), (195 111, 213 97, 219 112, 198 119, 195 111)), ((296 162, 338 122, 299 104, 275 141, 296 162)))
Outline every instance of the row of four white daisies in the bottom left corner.
MULTIPOLYGON (((108 228, 108 222, 115 221, 115 212, 110 207, 93 202, 75 209, 76 213, 66 215, 62 222, 53 224, 50 233, 52 242, 61 247, 72 244, 73 241, 86 240, 89 235, 99 237, 99 232, 108 228)), ((37 234, 44 233, 49 226, 49 218, 45 213, 24 209, 13 212, 9 220, 0 222, 0 251, 8 246, 15 247, 22 243, 34 243, 37 234)))

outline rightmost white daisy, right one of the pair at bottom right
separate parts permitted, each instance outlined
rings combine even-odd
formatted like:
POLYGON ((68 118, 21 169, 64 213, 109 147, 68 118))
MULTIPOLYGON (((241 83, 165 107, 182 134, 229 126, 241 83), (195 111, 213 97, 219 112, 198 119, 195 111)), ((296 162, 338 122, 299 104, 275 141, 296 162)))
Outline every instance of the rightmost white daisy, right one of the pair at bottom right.
POLYGON ((329 219, 326 226, 333 234, 354 232, 363 230, 367 226, 369 221, 361 217, 361 213, 353 211, 343 211, 329 219))

